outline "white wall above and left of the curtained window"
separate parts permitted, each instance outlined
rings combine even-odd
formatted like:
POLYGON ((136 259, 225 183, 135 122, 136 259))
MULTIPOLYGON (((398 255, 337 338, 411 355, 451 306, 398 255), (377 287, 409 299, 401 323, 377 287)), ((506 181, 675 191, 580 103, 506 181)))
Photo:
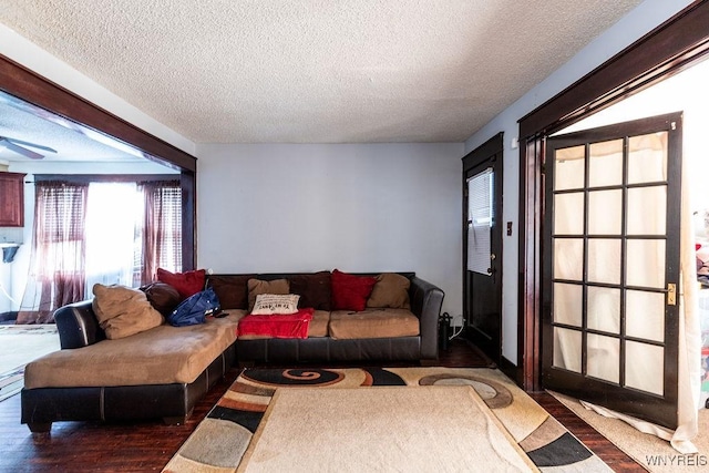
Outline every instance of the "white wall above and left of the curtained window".
POLYGON ((24 227, 0 228, 0 239, 20 241, 22 245, 12 263, 0 263, 0 284, 13 299, 10 300, 0 290, 0 313, 19 310, 30 267, 30 249, 32 246, 32 227, 34 225, 34 174, 173 174, 174 169, 160 164, 144 162, 129 163, 79 163, 79 162, 13 162, 8 169, 12 173, 25 173, 24 178, 24 227))

